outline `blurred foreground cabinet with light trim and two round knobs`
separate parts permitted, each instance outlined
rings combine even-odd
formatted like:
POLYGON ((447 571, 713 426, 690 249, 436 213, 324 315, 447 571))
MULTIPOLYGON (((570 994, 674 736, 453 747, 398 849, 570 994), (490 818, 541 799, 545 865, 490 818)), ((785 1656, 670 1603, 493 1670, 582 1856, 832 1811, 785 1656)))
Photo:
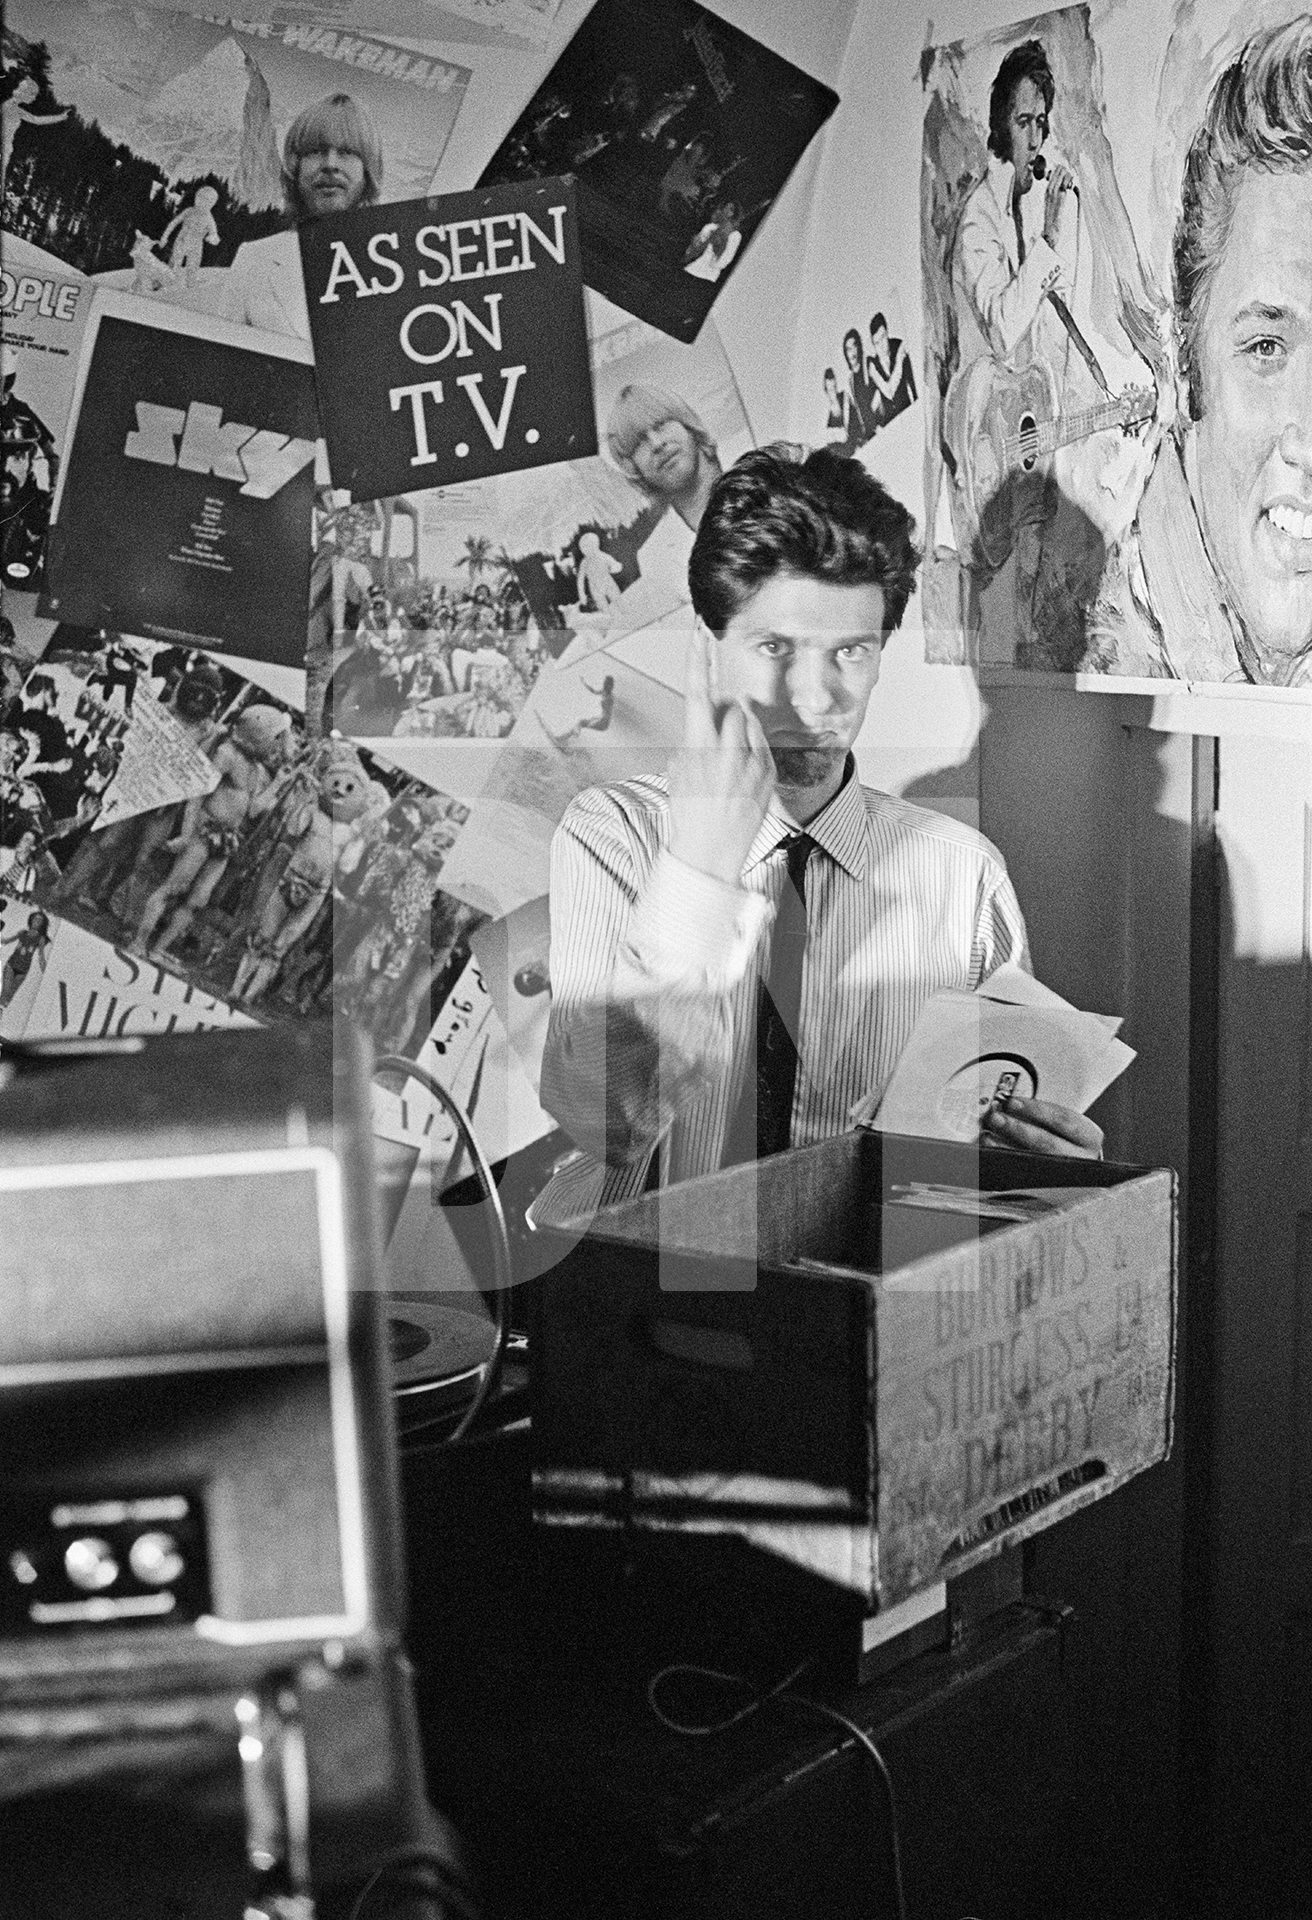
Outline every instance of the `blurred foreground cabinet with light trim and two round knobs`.
POLYGON ((238 1029, 0 1094, 8 1688, 396 1632, 365 1089, 344 1029, 238 1029))

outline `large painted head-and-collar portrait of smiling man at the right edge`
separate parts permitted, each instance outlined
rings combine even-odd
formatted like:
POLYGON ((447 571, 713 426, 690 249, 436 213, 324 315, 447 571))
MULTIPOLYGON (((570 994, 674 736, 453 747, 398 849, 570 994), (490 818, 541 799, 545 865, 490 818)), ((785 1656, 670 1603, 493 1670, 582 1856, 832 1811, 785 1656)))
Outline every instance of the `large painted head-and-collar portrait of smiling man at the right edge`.
POLYGON ((1218 73, 1174 230, 1179 413, 1087 668, 1312 685, 1312 15, 1218 73))

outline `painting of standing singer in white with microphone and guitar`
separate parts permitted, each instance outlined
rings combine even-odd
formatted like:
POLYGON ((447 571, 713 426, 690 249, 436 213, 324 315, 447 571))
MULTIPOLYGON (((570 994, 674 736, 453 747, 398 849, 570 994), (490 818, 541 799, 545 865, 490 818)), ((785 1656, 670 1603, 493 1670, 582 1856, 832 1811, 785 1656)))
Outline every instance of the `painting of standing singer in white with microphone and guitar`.
POLYGON ((930 659, 1074 670, 1166 380, 1085 8, 926 52, 930 659))

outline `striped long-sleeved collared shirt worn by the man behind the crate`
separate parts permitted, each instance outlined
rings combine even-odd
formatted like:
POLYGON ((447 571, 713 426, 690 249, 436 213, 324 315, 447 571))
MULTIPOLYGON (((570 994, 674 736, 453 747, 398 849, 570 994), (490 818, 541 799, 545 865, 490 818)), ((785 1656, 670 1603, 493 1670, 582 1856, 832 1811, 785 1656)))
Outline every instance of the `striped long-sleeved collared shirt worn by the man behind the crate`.
MULTIPOLYGON (((663 776, 592 787, 551 843, 542 1104, 582 1150, 534 1206, 563 1219, 711 1173, 755 1056, 757 989, 795 822, 761 822, 738 887, 668 851, 663 776)), ((847 780, 807 826, 807 948, 791 1142, 841 1133, 887 1085, 926 998, 1030 966, 997 849, 847 780)))

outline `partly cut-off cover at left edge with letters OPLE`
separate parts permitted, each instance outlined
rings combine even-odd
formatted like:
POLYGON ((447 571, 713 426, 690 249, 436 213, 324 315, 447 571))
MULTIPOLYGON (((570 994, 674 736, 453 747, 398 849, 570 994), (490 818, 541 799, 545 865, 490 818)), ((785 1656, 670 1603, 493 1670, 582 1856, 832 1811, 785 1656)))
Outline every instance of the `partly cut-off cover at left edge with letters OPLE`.
POLYGON ((4 493, 0 578, 6 591, 46 586, 46 534, 90 284, 52 253, 6 236, 0 267, 4 493))

